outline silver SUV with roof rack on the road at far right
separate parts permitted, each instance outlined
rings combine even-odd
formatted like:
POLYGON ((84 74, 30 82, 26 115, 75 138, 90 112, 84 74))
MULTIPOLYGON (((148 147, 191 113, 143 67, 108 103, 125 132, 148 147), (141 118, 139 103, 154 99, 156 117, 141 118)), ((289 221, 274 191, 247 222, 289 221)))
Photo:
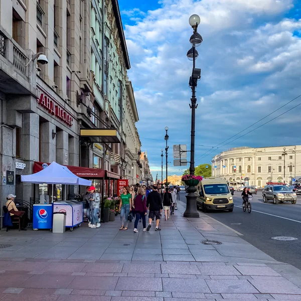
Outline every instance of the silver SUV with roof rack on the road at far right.
POLYGON ((291 202, 291 204, 295 204, 297 202, 296 193, 283 185, 265 186, 262 191, 262 197, 264 203, 267 203, 269 200, 272 200, 273 204, 278 204, 278 202, 291 202))

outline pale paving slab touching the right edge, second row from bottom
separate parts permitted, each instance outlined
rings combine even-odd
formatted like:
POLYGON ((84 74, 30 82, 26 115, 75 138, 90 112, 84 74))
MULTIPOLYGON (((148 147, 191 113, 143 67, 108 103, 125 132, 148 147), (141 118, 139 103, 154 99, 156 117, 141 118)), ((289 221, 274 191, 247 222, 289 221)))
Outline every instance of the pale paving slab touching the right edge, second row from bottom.
POLYGON ((249 281, 261 293, 301 294, 301 288, 297 287, 284 277, 252 276, 252 278, 253 280, 249 281))

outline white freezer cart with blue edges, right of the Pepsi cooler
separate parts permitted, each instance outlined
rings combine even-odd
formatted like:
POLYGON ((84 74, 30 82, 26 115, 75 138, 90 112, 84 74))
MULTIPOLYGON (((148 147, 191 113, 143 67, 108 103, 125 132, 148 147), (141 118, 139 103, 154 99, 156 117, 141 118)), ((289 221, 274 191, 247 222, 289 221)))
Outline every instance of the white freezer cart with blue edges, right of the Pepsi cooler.
POLYGON ((66 228, 80 227, 84 221, 84 204, 75 200, 58 201, 53 204, 53 212, 66 212, 66 228))

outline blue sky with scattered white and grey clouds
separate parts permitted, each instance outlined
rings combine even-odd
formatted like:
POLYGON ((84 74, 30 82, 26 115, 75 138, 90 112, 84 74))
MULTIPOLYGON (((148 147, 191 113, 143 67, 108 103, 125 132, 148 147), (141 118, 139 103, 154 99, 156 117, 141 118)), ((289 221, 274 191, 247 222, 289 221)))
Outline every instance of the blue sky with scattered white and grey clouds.
POLYGON ((196 60, 202 69, 196 165, 231 147, 301 144, 301 0, 119 0, 119 8, 141 150, 154 178, 161 175, 166 126, 169 175, 189 168, 173 166, 172 148, 190 149, 192 62, 186 54, 193 14, 201 18, 203 37, 196 60))

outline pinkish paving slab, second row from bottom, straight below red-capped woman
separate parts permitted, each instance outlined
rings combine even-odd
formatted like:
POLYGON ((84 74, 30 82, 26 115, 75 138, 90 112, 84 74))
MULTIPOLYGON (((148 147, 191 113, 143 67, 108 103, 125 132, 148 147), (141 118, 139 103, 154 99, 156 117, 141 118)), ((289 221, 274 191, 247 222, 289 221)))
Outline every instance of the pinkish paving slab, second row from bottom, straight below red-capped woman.
POLYGON ((68 288, 73 289, 95 289, 113 290, 115 289, 118 277, 104 276, 76 276, 75 279, 68 285, 68 288))

